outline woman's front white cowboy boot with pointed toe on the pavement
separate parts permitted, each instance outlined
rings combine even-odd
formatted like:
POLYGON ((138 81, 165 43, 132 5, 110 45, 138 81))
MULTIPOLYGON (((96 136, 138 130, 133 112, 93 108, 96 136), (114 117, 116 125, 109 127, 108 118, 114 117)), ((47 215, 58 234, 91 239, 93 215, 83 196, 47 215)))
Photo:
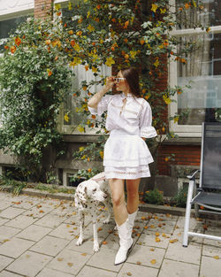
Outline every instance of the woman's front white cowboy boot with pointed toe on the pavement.
POLYGON ((131 232, 129 228, 128 219, 126 219, 125 223, 118 226, 118 235, 119 235, 119 250, 115 258, 114 265, 122 264, 126 261, 128 251, 131 249, 133 245, 133 239, 131 237, 131 232))

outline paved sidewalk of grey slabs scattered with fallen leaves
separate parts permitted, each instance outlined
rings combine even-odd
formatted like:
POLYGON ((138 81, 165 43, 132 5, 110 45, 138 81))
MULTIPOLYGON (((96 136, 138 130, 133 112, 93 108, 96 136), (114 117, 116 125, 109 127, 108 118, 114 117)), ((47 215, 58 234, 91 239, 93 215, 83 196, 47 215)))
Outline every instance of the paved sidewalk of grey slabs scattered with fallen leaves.
MULTIPOLYGON (((76 246, 79 223, 70 201, 0 193, 0 277, 220 277, 221 242, 194 238, 182 247, 184 218, 139 212, 133 250, 113 265, 118 250, 114 222, 98 222, 101 249, 93 253, 92 224, 76 246)), ((191 219, 191 228, 221 233, 221 222, 191 219)))

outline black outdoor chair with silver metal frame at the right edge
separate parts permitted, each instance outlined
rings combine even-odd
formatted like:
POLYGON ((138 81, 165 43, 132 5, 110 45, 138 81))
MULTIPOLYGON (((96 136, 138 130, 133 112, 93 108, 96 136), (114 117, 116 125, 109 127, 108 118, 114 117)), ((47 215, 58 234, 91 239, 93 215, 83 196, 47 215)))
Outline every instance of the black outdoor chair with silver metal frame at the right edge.
POLYGON ((203 206, 205 210, 199 212, 221 212, 221 122, 204 122, 202 124, 201 169, 189 176, 187 194, 186 219, 184 226, 183 246, 187 247, 188 236, 221 241, 221 236, 194 233, 189 231, 191 206, 203 206), (195 175, 200 172, 200 185, 194 195, 195 175))

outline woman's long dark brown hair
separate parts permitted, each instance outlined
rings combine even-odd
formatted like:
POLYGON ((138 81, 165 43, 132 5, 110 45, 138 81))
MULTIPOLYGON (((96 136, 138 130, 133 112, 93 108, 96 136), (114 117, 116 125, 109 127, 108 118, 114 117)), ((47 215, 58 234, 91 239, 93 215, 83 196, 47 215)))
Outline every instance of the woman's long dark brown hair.
POLYGON ((133 96, 141 97, 141 90, 139 86, 139 73, 134 67, 121 69, 121 73, 126 78, 126 82, 130 88, 133 96))

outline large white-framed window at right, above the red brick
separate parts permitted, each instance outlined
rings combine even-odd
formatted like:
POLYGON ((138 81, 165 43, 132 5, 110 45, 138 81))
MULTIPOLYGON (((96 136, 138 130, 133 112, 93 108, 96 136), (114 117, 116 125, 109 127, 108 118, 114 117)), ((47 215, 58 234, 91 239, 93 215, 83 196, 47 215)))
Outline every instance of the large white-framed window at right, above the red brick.
MULTIPOLYGON (((179 9, 184 1, 173 4, 179 9)), ((178 52, 194 42, 194 51, 182 56, 187 65, 171 62, 170 66, 170 85, 185 86, 171 104, 171 115, 182 115, 177 123, 171 122, 171 130, 181 136, 200 136, 203 121, 221 121, 221 3, 202 0, 202 4, 202 12, 186 9, 189 23, 180 18, 172 32, 180 40, 178 52), (196 21, 210 28, 194 28, 196 21)))

